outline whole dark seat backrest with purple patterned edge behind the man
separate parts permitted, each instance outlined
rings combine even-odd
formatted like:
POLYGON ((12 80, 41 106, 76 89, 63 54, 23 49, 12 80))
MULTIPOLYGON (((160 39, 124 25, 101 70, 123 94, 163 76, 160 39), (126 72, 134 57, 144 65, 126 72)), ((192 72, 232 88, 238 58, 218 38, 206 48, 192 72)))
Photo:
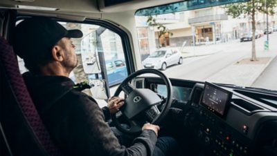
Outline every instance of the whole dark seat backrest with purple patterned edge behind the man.
POLYGON ((24 145, 24 142, 32 142, 32 144, 36 144, 33 145, 34 148, 39 148, 38 150, 33 149, 34 153, 30 151, 32 155, 60 155, 60 151, 53 144, 51 137, 44 127, 42 119, 40 119, 35 105, 30 98, 30 95, 24 83, 24 79, 19 72, 17 56, 13 52, 12 47, 8 44, 6 39, 3 39, 3 37, 0 37, 0 63, 1 92, 3 92, 3 94, 1 93, 1 97, 3 96, 3 101, 1 99, 0 109, 1 123, 3 124, 3 129, 5 130, 5 132, 8 133, 8 141, 9 139, 11 139, 11 149, 15 151, 14 153, 17 153, 19 155, 28 155, 28 153, 24 151, 17 151, 19 149, 24 150, 19 148, 18 146, 26 146, 26 148, 29 148, 28 146, 31 145, 24 145), (14 128, 20 129, 14 130, 14 128), (24 128, 26 128, 27 130, 24 130, 24 128), (9 133, 10 135, 14 135, 15 137, 10 137, 9 133), (21 137, 32 140, 14 140, 20 139, 21 137))

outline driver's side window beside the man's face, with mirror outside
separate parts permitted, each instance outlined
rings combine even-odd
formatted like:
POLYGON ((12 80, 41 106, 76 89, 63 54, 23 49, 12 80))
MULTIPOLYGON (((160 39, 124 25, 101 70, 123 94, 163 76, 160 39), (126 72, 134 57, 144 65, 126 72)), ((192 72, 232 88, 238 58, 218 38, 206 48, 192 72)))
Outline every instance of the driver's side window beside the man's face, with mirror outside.
MULTIPOLYGON (((124 75, 120 75, 120 79, 118 79, 117 75, 113 75, 116 66, 125 66, 123 41, 120 36, 112 30, 98 26, 97 24, 59 23, 68 30, 79 29, 83 32, 82 38, 71 39, 75 45, 78 65, 73 69, 69 78, 75 84, 83 81, 94 83, 96 79, 103 79, 104 73, 106 73, 107 77, 103 80, 108 86, 110 95, 114 95, 118 85, 127 77, 127 68, 120 70, 120 72, 125 73, 124 75), (113 60, 118 61, 113 62, 113 60)), ((19 66, 21 73, 26 72, 22 59, 19 59, 19 66)), ((98 92, 94 92, 96 94, 99 93, 99 90, 107 91, 103 85, 94 85, 93 87, 95 86, 102 86, 102 89, 100 88, 98 92)), ((86 89, 83 92, 93 97, 93 91, 86 89)), ((103 97, 101 100, 96 99, 100 107, 107 105, 107 102, 103 99, 105 98, 103 97)))

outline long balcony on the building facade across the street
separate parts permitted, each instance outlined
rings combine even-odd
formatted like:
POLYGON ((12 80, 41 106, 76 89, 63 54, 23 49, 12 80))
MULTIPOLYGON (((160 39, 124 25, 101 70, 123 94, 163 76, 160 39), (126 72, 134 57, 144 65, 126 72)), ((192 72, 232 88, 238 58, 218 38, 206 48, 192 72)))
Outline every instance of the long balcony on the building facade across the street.
POLYGON ((212 14, 212 15, 206 15, 203 17, 195 17, 192 19, 188 19, 188 23, 195 24, 195 23, 203 23, 203 22, 209 22, 209 21, 222 21, 227 19, 228 19, 228 15, 226 14, 212 14))

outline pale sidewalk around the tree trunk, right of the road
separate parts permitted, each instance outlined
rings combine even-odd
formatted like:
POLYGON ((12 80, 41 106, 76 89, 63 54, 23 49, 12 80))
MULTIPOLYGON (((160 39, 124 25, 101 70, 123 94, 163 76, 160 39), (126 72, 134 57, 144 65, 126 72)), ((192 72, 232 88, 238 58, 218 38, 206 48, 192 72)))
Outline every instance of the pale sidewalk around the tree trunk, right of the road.
POLYGON ((249 55, 244 57, 244 59, 238 60, 220 72, 217 72, 212 77, 209 77, 207 81, 251 86, 276 57, 277 47, 272 47, 268 51, 257 48, 256 55, 258 61, 249 61, 251 57, 251 52, 249 52, 249 55))

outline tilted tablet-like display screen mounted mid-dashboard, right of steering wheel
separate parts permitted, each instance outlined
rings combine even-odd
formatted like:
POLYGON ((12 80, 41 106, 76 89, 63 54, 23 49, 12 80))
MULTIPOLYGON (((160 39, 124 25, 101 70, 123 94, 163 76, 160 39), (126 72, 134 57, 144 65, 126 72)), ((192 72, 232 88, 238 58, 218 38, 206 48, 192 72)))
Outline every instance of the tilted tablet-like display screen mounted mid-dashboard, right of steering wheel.
POLYGON ((205 82, 202 104, 207 106, 213 112, 224 115, 226 105, 229 103, 231 96, 232 92, 205 82))

